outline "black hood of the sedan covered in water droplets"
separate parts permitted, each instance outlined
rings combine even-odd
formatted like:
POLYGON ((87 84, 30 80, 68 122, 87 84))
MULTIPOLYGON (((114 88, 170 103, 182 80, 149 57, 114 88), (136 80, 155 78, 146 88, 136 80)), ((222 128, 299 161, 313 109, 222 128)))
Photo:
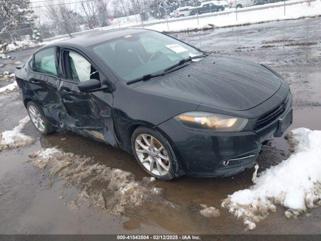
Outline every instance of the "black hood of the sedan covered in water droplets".
POLYGON ((231 110, 253 108, 270 98, 280 86, 281 80, 264 66, 222 55, 209 55, 135 85, 142 91, 231 110))

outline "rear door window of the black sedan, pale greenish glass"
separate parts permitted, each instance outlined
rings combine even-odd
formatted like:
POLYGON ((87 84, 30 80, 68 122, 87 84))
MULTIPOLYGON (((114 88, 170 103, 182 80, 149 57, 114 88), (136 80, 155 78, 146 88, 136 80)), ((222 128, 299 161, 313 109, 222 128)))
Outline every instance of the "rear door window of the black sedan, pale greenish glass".
POLYGON ((58 76, 55 54, 55 47, 44 49, 36 53, 34 60, 34 70, 37 72, 58 76))

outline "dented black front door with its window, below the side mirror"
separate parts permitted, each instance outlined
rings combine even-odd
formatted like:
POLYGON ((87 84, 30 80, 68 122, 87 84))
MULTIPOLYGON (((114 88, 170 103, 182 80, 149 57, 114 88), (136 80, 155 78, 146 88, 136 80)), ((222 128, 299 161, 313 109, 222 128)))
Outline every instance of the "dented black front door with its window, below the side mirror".
POLYGON ((111 84, 97 70, 96 65, 80 51, 62 48, 60 60, 63 77, 59 91, 66 108, 64 125, 68 129, 115 146, 112 93, 110 91, 84 93, 78 89, 79 83, 89 79, 98 79, 110 87, 111 84))

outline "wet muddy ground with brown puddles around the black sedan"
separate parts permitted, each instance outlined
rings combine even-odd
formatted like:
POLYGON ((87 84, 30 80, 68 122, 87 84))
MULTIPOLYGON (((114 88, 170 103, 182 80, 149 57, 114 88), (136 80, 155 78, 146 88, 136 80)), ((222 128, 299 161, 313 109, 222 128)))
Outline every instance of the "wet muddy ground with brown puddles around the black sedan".
MULTIPOLYGON (((294 119, 289 130, 320 129, 320 23, 320 18, 303 19, 174 36, 207 51, 272 66, 288 81, 293 94, 294 119)), ((0 72, 12 72, 14 65, 10 63, 26 60, 32 51, 10 54, 16 59, 7 60, 0 72)), ((2 80, 0 84, 1 87, 7 82, 2 80)), ((18 92, 0 94, 0 109, 0 131, 12 130, 27 115, 18 92)), ((177 207, 143 202, 118 216, 90 201, 73 209, 68 204, 84 185, 88 192, 98 193, 107 189, 106 184, 89 179, 81 183, 62 180, 47 169, 32 166, 27 162, 28 153, 58 146, 65 152, 94 157, 95 162, 107 167, 131 172, 137 181, 146 174, 131 155, 79 135, 57 132, 42 137, 31 123, 23 133, 35 138, 36 143, 0 153, 0 233, 321 233, 321 208, 293 220, 284 216, 285 209, 280 206, 255 230, 244 230, 242 221, 220 204, 228 194, 252 185, 253 169, 224 179, 182 177, 170 182, 155 181, 153 185, 163 188, 164 197, 179 204, 177 207), (200 204, 219 208, 221 215, 202 216, 200 204)), ((272 139, 259 156, 259 172, 286 159, 288 148, 283 138, 272 139)))

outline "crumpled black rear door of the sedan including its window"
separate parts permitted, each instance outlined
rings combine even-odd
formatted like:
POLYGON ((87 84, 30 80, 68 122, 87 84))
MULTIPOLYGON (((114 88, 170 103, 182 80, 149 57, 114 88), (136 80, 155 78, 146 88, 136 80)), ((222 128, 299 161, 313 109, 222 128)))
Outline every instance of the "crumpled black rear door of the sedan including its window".
POLYGON ((61 99, 58 91, 59 52, 56 46, 51 46, 36 52, 30 64, 26 79, 27 98, 36 101, 53 125, 59 125, 61 114, 61 99))

